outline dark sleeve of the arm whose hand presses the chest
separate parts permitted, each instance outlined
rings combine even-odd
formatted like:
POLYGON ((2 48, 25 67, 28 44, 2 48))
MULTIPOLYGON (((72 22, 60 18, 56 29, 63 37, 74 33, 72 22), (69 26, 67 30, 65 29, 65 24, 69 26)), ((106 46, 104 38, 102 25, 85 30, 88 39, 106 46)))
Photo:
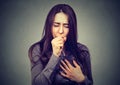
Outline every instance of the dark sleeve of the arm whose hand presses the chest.
POLYGON ((78 83, 78 85, 93 85, 89 50, 85 45, 80 46, 80 48, 82 49, 81 56, 84 57, 84 63, 85 63, 86 69, 84 72, 85 80, 81 83, 78 83))

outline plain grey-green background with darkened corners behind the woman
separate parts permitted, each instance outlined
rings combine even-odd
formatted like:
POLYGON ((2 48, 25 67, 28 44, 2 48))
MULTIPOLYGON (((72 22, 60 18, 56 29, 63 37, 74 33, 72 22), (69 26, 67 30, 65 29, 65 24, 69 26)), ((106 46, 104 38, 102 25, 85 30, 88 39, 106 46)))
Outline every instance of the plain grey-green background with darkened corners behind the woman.
POLYGON ((0 85, 30 85, 29 47, 41 39, 50 8, 67 3, 76 12, 78 41, 91 53, 94 85, 120 85, 119 0, 0 1, 0 85))

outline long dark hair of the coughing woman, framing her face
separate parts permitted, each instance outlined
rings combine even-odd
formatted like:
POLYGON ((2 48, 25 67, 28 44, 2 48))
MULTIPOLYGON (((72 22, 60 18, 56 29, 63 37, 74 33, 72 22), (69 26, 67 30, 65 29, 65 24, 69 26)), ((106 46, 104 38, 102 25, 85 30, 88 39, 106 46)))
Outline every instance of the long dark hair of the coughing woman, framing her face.
MULTIPOLYGON (((67 41, 65 42, 65 50, 71 52, 76 58, 79 55, 77 47, 77 20, 74 10, 67 4, 57 4, 55 5, 47 15, 44 30, 42 33, 42 39, 36 44, 40 45, 40 51, 42 57, 40 58, 44 64, 46 64, 52 54, 51 40, 53 39, 51 28, 53 25, 54 17, 57 13, 62 10, 68 16, 69 23, 69 33, 67 36, 67 41)), ((33 47, 32 45, 29 54, 31 53, 33 47)))

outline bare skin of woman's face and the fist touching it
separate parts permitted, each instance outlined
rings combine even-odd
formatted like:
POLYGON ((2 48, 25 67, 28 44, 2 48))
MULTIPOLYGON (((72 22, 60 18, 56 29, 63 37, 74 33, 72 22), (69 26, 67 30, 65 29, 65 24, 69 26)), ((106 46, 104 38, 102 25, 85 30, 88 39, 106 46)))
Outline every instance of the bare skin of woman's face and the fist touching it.
POLYGON ((55 56, 59 56, 61 54, 68 33, 68 16, 63 12, 57 13, 52 26, 52 35, 54 39, 51 42, 53 54, 55 56))

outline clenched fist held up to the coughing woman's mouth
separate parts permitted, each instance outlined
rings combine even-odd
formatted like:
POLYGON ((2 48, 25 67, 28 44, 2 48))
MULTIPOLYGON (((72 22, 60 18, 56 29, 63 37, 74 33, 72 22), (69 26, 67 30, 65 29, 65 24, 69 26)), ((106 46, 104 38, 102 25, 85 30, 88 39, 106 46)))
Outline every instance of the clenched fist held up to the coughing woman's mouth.
POLYGON ((53 54, 55 56, 59 56, 61 54, 65 41, 66 41, 66 37, 55 37, 51 41, 53 54))

